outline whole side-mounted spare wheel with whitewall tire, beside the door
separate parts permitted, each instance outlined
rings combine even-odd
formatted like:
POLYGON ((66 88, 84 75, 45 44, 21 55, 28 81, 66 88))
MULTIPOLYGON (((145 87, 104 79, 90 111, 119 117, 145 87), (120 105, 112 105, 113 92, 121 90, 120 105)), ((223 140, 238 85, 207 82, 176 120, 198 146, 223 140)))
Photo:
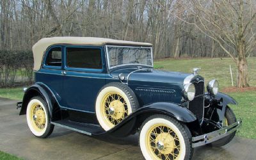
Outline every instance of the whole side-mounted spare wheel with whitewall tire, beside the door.
POLYGON ((108 131, 138 109, 135 93, 122 83, 108 83, 98 93, 95 111, 101 127, 108 131))

